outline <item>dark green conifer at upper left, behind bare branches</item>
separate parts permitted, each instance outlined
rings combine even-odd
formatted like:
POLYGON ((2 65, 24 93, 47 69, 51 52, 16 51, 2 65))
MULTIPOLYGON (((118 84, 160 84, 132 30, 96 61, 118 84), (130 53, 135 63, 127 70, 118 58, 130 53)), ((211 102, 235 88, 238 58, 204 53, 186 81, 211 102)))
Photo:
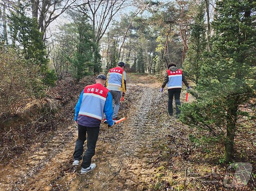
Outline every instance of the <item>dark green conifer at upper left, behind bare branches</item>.
POLYGON ((46 46, 42 41, 42 33, 37 29, 37 21, 26 16, 26 7, 28 5, 19 3, 17 12, 12 12, 9 17, 9 28, 13 47, 17 40, 22 46, 21 54, 29 63, 40 67, 40 75, 44 76, 44 83, 54 86, 57 80, 55 72, 49 69, 49 59, 47 59, 46 46))

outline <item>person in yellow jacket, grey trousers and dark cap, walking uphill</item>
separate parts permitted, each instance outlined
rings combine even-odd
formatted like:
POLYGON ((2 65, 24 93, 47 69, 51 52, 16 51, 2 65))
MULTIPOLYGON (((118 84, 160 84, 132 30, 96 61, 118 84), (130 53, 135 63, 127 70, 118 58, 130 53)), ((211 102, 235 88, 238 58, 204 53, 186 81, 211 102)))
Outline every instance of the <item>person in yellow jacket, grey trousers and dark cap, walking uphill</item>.
MULTIPOLYGON (((117 67, 109 69, 107 74, 106 86, 109 89, 113 99, 115 101, 113 121, 116 122, 118 120, 117 113, 120 107, 121 96, 124 96, 126 92, 126 84, 124 83, 124 62, 119 62, 117 67), (121 91, 123 90, 123 93, 121 91)), ((104 119, 104 123, 106 123, 106 119, 104 119)))

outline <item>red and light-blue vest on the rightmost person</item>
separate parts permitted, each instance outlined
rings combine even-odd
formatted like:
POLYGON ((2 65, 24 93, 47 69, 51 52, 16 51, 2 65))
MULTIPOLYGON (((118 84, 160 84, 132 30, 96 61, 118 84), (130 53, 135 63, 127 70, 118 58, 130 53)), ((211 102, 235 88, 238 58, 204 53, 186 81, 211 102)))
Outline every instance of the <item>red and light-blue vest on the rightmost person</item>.
POLYGON ((167 70, 169 81, 167 83, 167 88, 182 88, 182 70, 178 69, 177 71, 167 70))

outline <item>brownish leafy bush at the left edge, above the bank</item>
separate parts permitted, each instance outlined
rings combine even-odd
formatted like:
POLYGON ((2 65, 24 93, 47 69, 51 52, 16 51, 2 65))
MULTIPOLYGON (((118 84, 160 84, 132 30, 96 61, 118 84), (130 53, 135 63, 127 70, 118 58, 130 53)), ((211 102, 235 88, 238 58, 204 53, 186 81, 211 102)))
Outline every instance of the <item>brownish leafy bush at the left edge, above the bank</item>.
POLYGON ((15 114, 31 97, 44 96, 40 67, 15 50, 0 51, 0 116, 15 114))

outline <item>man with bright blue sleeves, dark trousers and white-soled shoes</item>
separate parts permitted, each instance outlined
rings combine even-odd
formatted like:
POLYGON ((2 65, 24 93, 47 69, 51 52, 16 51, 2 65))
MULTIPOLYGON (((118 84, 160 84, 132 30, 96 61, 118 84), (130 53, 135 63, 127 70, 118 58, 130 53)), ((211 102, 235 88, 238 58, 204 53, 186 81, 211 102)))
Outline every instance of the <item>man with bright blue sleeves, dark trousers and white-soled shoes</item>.
POLYGON ((103 113, 106 115, 109 126, 114 124, 112 119, 112 96, 109 90, 104 87, 106 80, 107 77, 105 75, 98 75, 96 77, 96 84, 84 88, 75 106, 75 122, 78 125, 78 139, 75 143, 73 165, 79 165, 79 161, 83 159, 81 174, 85 174, 96 167, 95 163, 91 163, 91 158, 95 155, 95 147, 103 113), (82 158, 86 133, 87 149, 82 158))

